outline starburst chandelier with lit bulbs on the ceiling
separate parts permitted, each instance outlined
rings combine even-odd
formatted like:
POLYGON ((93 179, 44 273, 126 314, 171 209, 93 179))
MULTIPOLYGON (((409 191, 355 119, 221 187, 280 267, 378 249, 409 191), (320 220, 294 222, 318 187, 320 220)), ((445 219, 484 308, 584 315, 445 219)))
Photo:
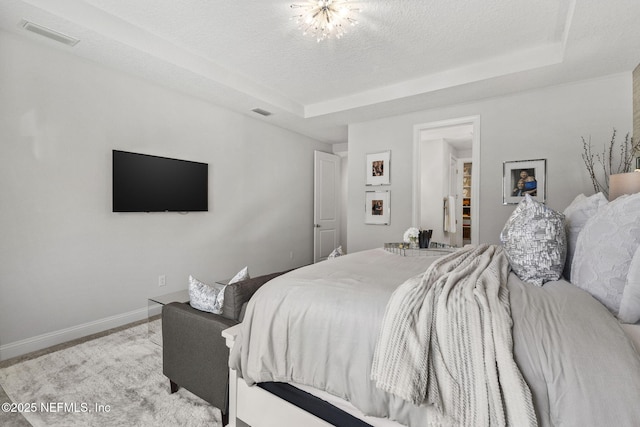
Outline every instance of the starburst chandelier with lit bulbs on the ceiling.
POLYGON ((318 43, 331 36, 342 37, 347 26, 358 23, 354 15, 360 12, 359 8, 349 4, 349 0, 305 1, 292 4, 291 8, 296 10, 293 18, 298 28, 304 35, 315 36, 318 43))

